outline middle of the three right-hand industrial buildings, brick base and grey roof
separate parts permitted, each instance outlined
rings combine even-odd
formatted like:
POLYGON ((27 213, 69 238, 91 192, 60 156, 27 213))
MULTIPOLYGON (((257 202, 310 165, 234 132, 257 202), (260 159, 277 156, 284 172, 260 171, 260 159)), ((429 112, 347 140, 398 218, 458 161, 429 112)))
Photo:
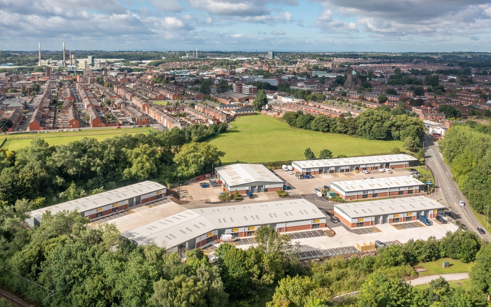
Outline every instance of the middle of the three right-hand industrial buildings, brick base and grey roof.
POLYGON ((331 182, 331 190, 346 201, 425 192, 425 184, 408 176, 331 182))

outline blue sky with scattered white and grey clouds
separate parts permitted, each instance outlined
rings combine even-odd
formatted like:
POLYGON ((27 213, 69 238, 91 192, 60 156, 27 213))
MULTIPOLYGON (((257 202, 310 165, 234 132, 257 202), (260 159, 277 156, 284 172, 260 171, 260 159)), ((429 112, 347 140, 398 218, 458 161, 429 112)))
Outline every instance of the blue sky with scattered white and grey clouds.
POLYGON ((489 0, 0 0, 0 50, 491 51, 489 0))

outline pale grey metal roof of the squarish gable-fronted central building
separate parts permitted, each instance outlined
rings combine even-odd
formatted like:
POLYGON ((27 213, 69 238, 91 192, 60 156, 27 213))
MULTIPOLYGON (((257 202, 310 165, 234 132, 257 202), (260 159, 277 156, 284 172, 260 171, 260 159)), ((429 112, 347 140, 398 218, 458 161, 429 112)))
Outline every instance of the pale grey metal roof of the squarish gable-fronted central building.
POLYGON ((253 182, 283 183, 282 179, 262 164, 239 163, 215 167, 215 170, 230 187, 250 185, 253 182))

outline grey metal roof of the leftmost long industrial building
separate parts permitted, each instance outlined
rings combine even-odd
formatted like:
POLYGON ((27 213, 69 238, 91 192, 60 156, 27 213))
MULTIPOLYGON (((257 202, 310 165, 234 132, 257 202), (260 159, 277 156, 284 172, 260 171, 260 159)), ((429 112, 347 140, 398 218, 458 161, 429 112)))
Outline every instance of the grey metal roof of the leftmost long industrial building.
POLYGON ((78 212, 84 212, 87 210, 92 210, 102 206, 121 202, 160 189, 166 189, 166 187, 157 182, 143 181, 118 189, 86 196, 84 198, 79 198, 73 201, 37 209, 31 211, 31 216, 36 218, 36 220, 41 221, 42 214, 47 210, 50 210, 52 214, 55 214, 62 210, 77 210, 78 212))

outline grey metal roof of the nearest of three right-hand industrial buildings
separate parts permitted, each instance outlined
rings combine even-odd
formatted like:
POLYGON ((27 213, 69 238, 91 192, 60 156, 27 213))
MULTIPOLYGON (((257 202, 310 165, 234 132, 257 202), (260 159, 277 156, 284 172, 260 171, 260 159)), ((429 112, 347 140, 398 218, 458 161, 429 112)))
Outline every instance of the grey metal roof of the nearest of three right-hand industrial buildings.
POLYGON ((422 210, 447 208, 426 196, 368 201, 358 203, 334 204, 334 210, 340 210, 351 218, 385 215, 422 210))

